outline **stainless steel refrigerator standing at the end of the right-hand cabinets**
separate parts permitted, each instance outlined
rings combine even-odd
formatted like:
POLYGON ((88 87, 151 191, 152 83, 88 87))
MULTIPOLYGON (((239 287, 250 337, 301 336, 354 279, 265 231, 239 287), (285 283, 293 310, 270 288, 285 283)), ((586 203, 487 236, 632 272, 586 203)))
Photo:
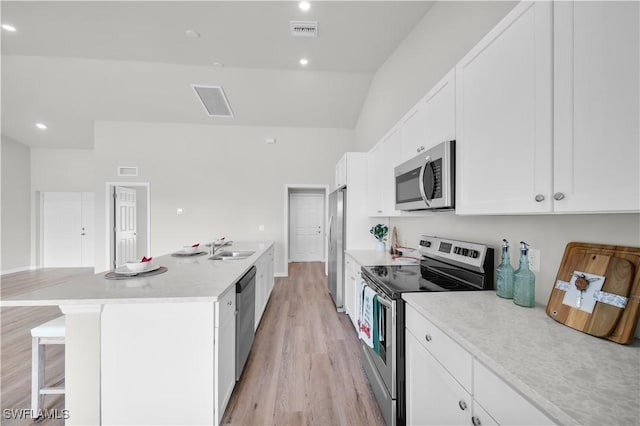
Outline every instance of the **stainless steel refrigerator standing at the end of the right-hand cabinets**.
POLYGON ((344 237, 347 188, 329 194, 329 294, 338 311, 344 306, 344 237))

